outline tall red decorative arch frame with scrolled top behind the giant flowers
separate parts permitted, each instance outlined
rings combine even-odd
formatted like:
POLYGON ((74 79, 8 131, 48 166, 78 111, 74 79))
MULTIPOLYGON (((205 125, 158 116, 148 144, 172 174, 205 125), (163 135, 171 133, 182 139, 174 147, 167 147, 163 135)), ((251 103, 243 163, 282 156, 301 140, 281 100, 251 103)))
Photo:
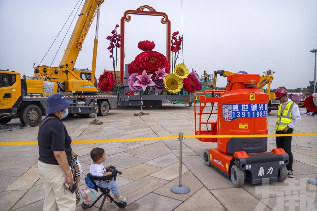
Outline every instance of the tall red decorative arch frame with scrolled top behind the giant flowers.
POLYGON ((124 15, 121 17, 121 30, 120 34, 122 35, 123 39, 121 40, 121 47, 120 47, 120 83, 124 83, 124 43, 125 43, 125 21, 131 21, 131 16, 133 15, 145 15, 145 16, 163 16, 161 19, 161 23, 166 24, 166 57, 169 63, 171 63, 171 21, 168 19, 168 16, 164 12, 157 12, 153 7, 149 5, 140 6, 136 10, 126 10, 124 15), (149 11, 144 11, 147 8, 149 11))

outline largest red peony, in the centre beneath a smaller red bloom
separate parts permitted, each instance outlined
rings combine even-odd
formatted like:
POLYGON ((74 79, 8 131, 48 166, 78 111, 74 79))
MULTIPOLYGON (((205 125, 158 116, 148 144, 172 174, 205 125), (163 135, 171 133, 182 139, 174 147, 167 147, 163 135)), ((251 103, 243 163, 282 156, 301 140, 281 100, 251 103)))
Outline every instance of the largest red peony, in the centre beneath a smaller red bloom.
POLYGON ((157 51, 145 51, 135 57, 135 60, 128 66, 128 72, 129 75, 134 72, 142 75, 143 70, 145 70, 148 75, 153 74, 152 79, 154 79, 155 71, 158 71, 159 68, 165 68, 165 73, 170 72, 171 65, 167 58, 157 51))

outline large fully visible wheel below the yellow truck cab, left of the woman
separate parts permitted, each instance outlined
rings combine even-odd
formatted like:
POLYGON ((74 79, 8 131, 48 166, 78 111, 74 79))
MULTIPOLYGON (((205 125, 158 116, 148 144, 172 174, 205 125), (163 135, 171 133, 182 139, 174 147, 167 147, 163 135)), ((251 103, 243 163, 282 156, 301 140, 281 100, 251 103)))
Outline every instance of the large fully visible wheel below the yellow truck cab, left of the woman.
POLYGON ((35 127, 42 120, 42 111, 37 105, 26 105, 21 110, 19 117, 23 125, 35 127))

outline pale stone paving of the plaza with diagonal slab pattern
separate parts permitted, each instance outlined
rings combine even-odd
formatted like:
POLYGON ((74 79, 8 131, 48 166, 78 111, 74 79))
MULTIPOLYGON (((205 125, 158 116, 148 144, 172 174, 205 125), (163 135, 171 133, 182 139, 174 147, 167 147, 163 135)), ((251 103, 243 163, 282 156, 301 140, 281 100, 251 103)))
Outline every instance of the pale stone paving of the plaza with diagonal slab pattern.
MULTIPOLYGON (((211 106, 206 107, 206 112, 211 106)), ((301 108, 301 111, 305 109, 301 108)), ((63 120, 72 140, 128 139, 194 134, 194 109, 184 104, 163 104, 163 109, 144 109, 147 116, 134 116, 138 109, 118 108, 99 117, 103 125, 90 125, 92 119, 74 117, 63 120)), ((205 117, 207 119, 208 116, 205 117)), ((268 115, 268 133, 275 133, 277 111, 268 115)), ((294 133, 316 133, 317 118, 301 116, 294 133)), ((209 121, 215 121, 212 116, 209 121)), ((21 124, 18 119, 10 124, 21 124)), ((205 126, 204 126, 205 128, 205 126)), ((0 133, 0 141, 36 141, 38 127, 0 133)), ((89 152, 93 147, 106 151, 105 164, 122 171, 117 177, 120 194, 126 197, 124 210, 316 210, 316 186, 307 178, 316 177, 317 136, 294 136, 294 178, 284 182, 250 185, 235 188, 230 178, 213 167, 205 166, 205 149, 216 143, 196 139, 183 140, 182 183, 190 188, 184 195, 170 191, 178 184, 179 141, 148 140, 138 142, 73 144, 80 156, 82 169, 89 172, 92 162, 89 152)), ((275 138, 268 138, 268 150, 275 148, 275 138)), ((42 210, 45 197, 37 171, 37 145, 0 146, 0 209, 42 210)), ((80 189, 85 186, 81 175, 80 189)), ((96 193, 99 195, 99 192, 96 193)), ((95 207, 98 210, 101 200, 95 207)), ((81 202, 76 210, 82 210, 81 202)), ((105 203, 103 210, 119 210, 114 203, 105 203)))

